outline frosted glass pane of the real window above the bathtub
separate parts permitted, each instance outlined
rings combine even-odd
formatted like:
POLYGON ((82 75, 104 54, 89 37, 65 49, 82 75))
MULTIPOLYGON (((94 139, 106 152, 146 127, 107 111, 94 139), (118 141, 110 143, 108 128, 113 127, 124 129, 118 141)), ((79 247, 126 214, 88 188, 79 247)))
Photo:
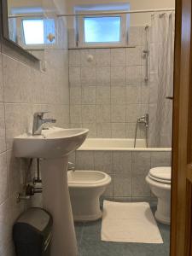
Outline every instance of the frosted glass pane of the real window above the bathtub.
POLYGON ((116 43, 120 41, 120 17, 84 17, 85 43, 116 43))

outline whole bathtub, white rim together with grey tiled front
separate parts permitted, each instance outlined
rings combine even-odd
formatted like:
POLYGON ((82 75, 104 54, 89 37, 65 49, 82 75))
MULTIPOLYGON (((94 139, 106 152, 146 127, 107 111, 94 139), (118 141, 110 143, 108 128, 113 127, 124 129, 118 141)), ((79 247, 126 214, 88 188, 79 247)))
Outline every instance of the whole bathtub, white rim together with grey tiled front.
POLYGON ((154 200, 145 177, 156 166, 171 166, 172 148, 146 148, 144 139, 88 138, 70 156, 77 170, 106 172, 112 177, 104 196, 114 200, 154 200))

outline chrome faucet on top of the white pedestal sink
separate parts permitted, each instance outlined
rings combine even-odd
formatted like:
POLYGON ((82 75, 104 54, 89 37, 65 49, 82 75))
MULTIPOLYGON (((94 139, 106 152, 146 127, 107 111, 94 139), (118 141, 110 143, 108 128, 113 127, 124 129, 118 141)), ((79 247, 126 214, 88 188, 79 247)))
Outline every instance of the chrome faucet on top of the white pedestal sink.
POLYGON ((34 113, 32 135, 41 135, 41 131, 44 129, 45 124, 56 122, 56 119, 44 119, 44 113, 49 113, 49 112, 34 113))

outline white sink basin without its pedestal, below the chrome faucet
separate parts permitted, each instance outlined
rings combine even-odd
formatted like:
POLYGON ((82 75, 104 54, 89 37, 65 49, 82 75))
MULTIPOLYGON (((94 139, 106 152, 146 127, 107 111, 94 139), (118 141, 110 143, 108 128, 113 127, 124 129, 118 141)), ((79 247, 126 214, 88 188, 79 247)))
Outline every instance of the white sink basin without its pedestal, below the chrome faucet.
POLYGON ((70 154, 84 143, 88 129, 43 130, 41 135, 23 134, 14 139, 15 157, 59 158, 70 154))

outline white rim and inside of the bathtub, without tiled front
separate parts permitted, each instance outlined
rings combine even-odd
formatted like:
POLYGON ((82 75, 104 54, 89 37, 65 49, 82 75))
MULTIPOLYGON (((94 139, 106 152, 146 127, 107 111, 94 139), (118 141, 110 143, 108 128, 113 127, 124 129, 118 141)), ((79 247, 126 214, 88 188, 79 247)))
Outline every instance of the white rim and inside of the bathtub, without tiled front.
POLYGON ((78 150, 171 151, 172 148, 147 148, 144 139, 137 139, 134 148, 134 139, 88 138, 78 150))

